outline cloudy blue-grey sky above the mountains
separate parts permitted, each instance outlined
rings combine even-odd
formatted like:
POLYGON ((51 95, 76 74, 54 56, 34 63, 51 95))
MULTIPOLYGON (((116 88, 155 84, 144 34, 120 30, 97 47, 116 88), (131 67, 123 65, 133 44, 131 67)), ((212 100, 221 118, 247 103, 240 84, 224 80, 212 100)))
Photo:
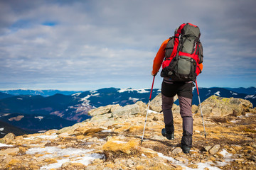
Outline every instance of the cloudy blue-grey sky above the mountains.
MULTIPOLYGON (((198 86, 256 86, 255 0, 0 0, 0 8, 0 90, 151 88, 156 52, 182 23, 201 30, 198 86)), ((154 88, 161 81, 157 74, 154 88)))

